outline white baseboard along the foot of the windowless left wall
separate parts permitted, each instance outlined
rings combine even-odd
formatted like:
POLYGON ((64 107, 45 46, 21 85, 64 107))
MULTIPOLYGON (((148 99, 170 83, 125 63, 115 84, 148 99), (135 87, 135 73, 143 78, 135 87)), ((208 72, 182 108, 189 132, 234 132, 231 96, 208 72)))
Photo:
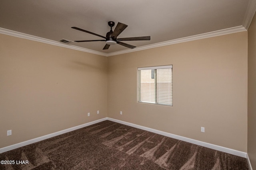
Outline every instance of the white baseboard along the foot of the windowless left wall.
POLYGON ((36 143, 36 142, 39 142, 39 141, 42 141, 42 140, 45 140, 45 139, 48 139, 48 138, 51 138, 51 137, 55 137, 55 136, 58 136, 58 135, 61 135, 61 134, 67 133, 67 132, 71 132, 71 131, 74 131, 76 129, 80 129, 82 127, 90 126, 90 125, 93 125, 95 123, 99 123, 99 122, 105 121, 105 120, 107 120, 107 117, 105 117, 103 119, 98 119, 96 121, 91 121, 91 122, 88 122, 88 123, 84 123, 82 125, 78 125, 78 126, 71 127, 71 128, 68 128, 68 129, 64 129, 62 131, 54 132, 54 133, 51 133, 49 135, 44 135, 42 137, 37 137, 35 139, 30 139, 28 141, 24 141, 24 142, 21 142, 21 143, 10 145, 8 147, 0 148, 0 153, 7 152, 9 150, 16 149, 16 148, 19 148, 19 147, 24 147, 26 145, 30 145, 32 143, 36 143))

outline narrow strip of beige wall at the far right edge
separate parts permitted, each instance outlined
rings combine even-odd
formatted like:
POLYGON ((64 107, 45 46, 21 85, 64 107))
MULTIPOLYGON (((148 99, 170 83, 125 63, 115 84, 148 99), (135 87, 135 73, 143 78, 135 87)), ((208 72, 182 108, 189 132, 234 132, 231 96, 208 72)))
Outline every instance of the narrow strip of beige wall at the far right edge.
POLYGON ((248 29, 248 155, 256 169, 256 15, 248 29))

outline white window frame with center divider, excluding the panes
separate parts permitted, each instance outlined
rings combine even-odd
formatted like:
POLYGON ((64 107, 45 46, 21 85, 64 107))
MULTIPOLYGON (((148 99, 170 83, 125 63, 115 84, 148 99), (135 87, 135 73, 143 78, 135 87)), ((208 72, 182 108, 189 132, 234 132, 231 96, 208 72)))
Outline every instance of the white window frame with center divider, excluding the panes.
POLYGON ((137 68, 137 102, 138 103, 146 103, 146 104, 156 104, 156 105, 163 105, 163 106, 173 106, 173 66, 172 65, 164 65, 164 66, 149 66, 149 67, 138 67, 137 68), (164 68, 171 68, 171 80, 169 83, 171 83, 171 104, 164 104, 164 103, 157 103, 157 71, 158 69, 164 69, 164 68), (145 101, 140 101, 140 91, 141 91, 141 79, 140 79, 140 70, 151 70, 151 79, 152 79, 152 70, 154 70, 154 84, 155 84, 155 90, 154 90, 154 95, 155 95, 155 102, 145 102, 145 101))

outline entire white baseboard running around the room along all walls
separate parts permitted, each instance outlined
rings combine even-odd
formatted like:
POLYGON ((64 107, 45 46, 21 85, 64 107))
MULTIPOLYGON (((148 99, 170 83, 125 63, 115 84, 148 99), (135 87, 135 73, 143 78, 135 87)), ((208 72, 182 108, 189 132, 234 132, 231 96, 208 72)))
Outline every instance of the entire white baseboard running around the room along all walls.
POLYGON ((75 127, 64 129, 62 131, 51 133, 49 135, 44 135, 42 137, 38 137, 38 138, 35 138, 35 139, 31 139, 31 140, 28 140, 28 141, 24 141, 24 142, 21 142, 21 143, 10 145, 8 147, 0 148, 0 153, 6 152, 6 151, 9 151, 9 150, 12 150, 12 149, 16 149, 16 148, 19 148, 19 147, 24 147, 26 145, 36 143, 36 142, 39 142, 39 141, 42 141, 44 139, 48 139, 48 138, 51 138, 51 137, 55 137, 55 136, 61 135, 63 133, 74 131, 74 130, 80 129, 82 127, 93 125, 95 123, 99 123, 99 122, 105 121, 105 120, 114 121, 116 123, 121 123, 121 124, 128 125, 128 126, 131 126, 131 127, 136 127, 138 129, 142 129, 142 130, 145 130, 145 131, 150 131, 150 132, 153 132, 153 133, 157 133, 157 134, 164 135, 164 136, 167 136, 167 137, 171 137, 171 138, 174 138, 174 139, 178 139, 178 140, 181 140, 181 141, 186 141, 186 142, 193 143, 193 144, 196 144, 196 145, 200 145, 200 146, 203 146, 203 147, 207 147, 207 148, 210 148, 210 149, 215 149, 215 150, 219 150, 219 151, 226 152, 226 153, 229 153, 229 154, 234 154, 236 156, 241 156, 241 157, 247 158, 248 163, 250 163, 248 154, 246 152, 241 152, 241 151, 238 151, 238 150, 229 149, 229 148, 221 147, 221 146, 218 146, 218 145, 213 145, 213 144, 210 144, 210 143, 205 143, 205 142, 202 142, 202 141, 197 141, 195 139, 190 139, 190 138, 187 138, 187 137, 182 137, 182 136, 179 136, 179 135, 174 135, 174 134, 163 132, 163 131, 158 131, 156 129, 151 129, 151 128, 136 125, 136 124, 133 124, 133 123, 128 123, 128 122, 125 122, 125 121, 112 119, 110 117, 105 117, 103 119, 98 119, 96 121, 92 121, 92 122, 89 122, 89 123, 85 123, 85 124, 82 124, 82 125, 78 125, 78 126, 75 126, 75 127))

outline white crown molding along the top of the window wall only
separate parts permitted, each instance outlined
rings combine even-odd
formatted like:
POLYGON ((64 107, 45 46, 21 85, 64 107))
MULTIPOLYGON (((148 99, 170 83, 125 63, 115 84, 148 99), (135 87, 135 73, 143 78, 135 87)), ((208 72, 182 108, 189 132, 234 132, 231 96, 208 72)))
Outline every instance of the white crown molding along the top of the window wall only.
POLYGON ((107 57, 113 56, 113 55, 120 55, 120 54, 124 54, 124 53, 131 53, 131 52, 135 52, 135 51, 146 50, 146 49, 152 49, 152 48, 156 48, 156 47, 162 47, 162 46, 166 46, 166 45, 184 43, 184 42, 187 42, 187 41, 194 41, 194 40, 197 40, 197 39, 216 37, 216 36, 219 36, 219 35, 236 33, 236 32, 241 32, 241 31, 246 31, 246 29, 243 26, 232 27, 232 28, 222 29, 222 30, 218 30, 218 31, 212 31, 212 32, 209 32, 209 33, 202 33, 202 34, 198 34, 198 35, 192 35, 192 36, 189 36, 189 37, 174 39, 174 40, 170 40, 170 41, 164 41, 164 42, 161 42, 161 43, 145 45, 145 46, 142 46, 142 47, 136 47, 134 49, 127 49, 127 50, 123 50, 123 51, 117 51, 117 52, 114 52, 114 53, 108 53, 107 57))

